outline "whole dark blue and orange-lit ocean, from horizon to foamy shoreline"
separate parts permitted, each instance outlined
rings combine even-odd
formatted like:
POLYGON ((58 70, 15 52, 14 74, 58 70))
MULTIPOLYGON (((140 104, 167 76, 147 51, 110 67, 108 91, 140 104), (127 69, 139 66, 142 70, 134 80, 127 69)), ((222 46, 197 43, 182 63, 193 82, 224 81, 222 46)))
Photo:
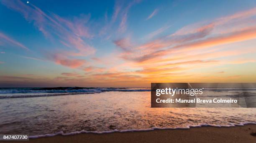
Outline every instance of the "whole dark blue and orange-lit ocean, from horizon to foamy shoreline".
MULTIPOLYGON (((256 102, 256 89, 205 89, 256 102)), ((256 108, 151 108, 150 88, 0 88, 0 134, 147 131, 256 124, 256 108)), ((213 94, 212 94, 213 93, 213 94)))

